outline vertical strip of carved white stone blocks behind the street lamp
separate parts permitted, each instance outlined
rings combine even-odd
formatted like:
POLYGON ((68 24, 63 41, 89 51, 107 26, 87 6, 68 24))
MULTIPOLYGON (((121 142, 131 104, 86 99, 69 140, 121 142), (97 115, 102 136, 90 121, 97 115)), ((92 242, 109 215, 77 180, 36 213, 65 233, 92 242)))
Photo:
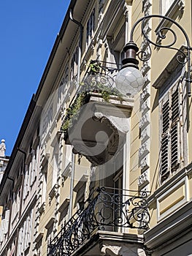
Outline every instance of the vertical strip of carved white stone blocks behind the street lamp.
MULTIPOLYGON (((143 15, 150 15, 151 7, 151 0, 142 0, 143 15)), ((150 38, 151 20, 147 20, 143 29, 147 37, 150 38)), ((150 55, 150 47, 146 38, 142 40, 141 50, 144 50, 146 55, 150 55)), ((141 175, 138 177, 138 187, 144 189, 150 182, 150 60, 143 62, 141 70, 145 84, 140 94, 141 118, 139 129, 141 146, 139 148, 139 167, 141 168, 141 175)))

